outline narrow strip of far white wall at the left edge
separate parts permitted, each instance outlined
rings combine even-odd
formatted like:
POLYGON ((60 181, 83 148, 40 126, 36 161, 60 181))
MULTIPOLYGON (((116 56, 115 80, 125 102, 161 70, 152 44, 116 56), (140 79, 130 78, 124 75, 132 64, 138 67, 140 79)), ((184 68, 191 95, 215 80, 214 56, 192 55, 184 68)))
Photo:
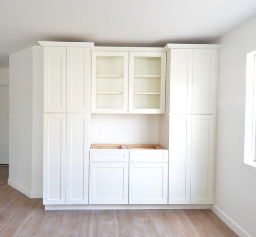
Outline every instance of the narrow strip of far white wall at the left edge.
POLYGON ((9 163, 9 68, 0 67, 0 164, 9 163))

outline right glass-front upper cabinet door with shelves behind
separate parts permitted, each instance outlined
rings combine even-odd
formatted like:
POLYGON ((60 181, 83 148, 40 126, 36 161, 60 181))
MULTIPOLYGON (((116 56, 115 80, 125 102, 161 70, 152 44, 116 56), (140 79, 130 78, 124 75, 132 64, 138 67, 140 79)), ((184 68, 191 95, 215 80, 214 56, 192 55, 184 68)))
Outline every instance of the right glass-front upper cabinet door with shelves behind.
POLYGON ((130 52, 129 113, 164 114, 166 53, 130 52))

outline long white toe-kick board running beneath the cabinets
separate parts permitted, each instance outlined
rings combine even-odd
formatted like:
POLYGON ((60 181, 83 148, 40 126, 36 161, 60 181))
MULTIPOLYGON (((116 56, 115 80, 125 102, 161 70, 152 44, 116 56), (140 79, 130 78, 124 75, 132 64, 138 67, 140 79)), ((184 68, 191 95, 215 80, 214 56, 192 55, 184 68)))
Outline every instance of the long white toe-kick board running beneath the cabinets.
POLYGON ((209 209, 209 204, 88 204, 88 205, 44 205, 45 210, 128 210, 128 209, 209 209))

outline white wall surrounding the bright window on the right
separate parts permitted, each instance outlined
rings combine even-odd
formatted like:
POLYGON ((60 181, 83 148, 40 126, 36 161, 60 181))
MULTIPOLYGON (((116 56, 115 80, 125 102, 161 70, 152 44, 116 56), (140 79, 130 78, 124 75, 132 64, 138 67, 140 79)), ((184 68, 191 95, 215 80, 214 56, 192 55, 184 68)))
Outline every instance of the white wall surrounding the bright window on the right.
POLYGON ((212 42, 220 43, 213 209, 244 229, 240 236, 256 236, 256 168, 244 164, 246 54, 256 50, 255 29, 253 17, 212 42))

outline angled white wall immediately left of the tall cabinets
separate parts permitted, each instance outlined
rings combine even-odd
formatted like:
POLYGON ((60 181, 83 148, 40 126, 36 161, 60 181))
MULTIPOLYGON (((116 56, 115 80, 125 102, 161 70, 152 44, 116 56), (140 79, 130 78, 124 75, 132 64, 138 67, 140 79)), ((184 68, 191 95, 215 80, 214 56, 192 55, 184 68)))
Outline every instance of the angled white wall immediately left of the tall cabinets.
POLYGON ((10 55, 8 184, 31 198, 43 190, 43 47, 10 55))

